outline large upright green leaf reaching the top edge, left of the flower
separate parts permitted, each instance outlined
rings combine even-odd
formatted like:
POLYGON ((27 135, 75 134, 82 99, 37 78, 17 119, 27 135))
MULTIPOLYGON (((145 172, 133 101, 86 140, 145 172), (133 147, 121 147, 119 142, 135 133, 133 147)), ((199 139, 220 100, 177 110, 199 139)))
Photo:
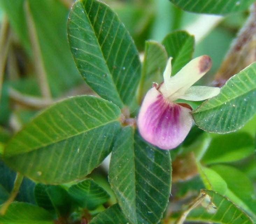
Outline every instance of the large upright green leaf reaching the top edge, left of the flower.
POLYGON ((70 12, 68 38, 87 84, 119 107, 134 100, 141 63, 117 15, 97 0, 79 0, 70 12))

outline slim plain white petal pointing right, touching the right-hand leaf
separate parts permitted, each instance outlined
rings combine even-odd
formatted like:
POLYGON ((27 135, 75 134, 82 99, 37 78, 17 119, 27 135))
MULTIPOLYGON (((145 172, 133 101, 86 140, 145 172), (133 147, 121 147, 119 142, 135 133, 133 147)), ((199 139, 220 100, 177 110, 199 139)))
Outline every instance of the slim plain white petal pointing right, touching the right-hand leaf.
POLYGON ((179 99, 201 101, 212 98, 220 93, 220 88, 210 86, 191 86, 179 99))

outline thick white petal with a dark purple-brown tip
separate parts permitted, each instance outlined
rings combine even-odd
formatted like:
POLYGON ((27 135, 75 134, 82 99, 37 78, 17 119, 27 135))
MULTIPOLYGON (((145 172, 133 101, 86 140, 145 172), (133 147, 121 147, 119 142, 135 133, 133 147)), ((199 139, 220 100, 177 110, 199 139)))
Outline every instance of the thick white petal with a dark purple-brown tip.
POLYGON ((178 99, 180 95, 183 95, 189 87, 209 71, 211 65, 212 61, 209 56, 202 55, 196 57, 168 80, 168 84, 166 84, 168 86, 167 90, 164 90, 162 85, 160 91, 164 94, 165 98, 171 100, 178 99))

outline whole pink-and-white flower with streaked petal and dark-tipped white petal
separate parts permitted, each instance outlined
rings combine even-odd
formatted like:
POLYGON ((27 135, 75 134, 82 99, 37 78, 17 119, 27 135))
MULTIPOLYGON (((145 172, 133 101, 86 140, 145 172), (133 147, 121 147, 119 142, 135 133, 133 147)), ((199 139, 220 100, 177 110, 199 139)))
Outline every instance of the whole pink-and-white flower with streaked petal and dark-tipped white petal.
POLYGON ((141 136, 161 149, 177 147, 189 133, 193 118, 191 107, 177 99, 200 101, 216 96, 218 87, 192 86, 211 68, 209 56, 197 57, 171 77, 171 60, 164 71, 164 82, 154 84, 147 92, 138 114, 141 136))

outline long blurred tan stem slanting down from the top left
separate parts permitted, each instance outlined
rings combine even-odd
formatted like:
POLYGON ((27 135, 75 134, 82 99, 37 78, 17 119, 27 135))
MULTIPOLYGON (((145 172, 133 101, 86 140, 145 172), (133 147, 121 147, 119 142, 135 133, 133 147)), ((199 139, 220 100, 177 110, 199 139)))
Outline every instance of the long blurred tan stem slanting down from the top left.
POLYGON ((44 63, 41 55, 41 49, 39 45, 38 36, 36 33, 36 27, 33 21, 33 17, 31 15, 28 1, 24 2, 24 12, 25 12, 25 18, 26 18, 27 27, 28 27, 28 34, 31 42, 31 48, 34 56, 35 70, 36 70, 38 82, 40 85, 41 93, 43 98, 50 99, 51 98, 50 87, 47 82, 47 75, 46 75, 46 71, 44 68, 44 63))

